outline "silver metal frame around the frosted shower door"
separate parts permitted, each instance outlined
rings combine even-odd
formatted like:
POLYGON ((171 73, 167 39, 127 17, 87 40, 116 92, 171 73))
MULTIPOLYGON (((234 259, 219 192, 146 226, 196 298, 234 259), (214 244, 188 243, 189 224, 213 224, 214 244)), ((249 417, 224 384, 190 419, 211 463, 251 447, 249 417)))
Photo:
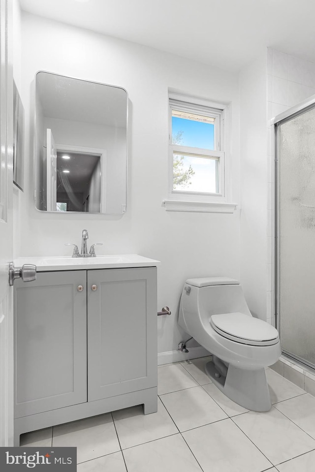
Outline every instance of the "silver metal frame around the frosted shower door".
MULTIPOLYGON (((275 218, 274 218, 274 247, 275 247, 275 255, 274 255, 274 316, 275 316, 275 325, 279 331, 280 335, 280 297, 279 297, 279 287, 280 287, 280 238, 279 238, 279 231, 280 231, 280 175, 279 175, 279 126, 283 125, 284 123, 292 120, 293 118, 303 115, 304 113, 308 112, 315 108, 315 95, 308 97, 307 99, 303 100, 302 102, 298 103, 297 105, 289 108, 288 110, 280 113, 276 117, 272 118, 270 121, 271 125, 271 146, 272 146, 272 155, 274 157, 274 195, 275 195, 275 218)), ((281 343, 281 337, 280 337, 281 343)), ((292 354, 291 352, 286 351, 281 347, 282 352, 290 357, 291 359, 307 366, 311 369, 315 369, 315 365, 307 362, 305 359, 301 359, 300 357, 292 354)))

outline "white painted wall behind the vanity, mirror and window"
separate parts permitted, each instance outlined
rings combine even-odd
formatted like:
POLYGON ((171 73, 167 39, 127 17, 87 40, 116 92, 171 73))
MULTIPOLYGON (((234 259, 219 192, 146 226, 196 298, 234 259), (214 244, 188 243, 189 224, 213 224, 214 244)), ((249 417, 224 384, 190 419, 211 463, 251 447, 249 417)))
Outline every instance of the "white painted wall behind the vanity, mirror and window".
POLYGON ((189 277, 239 278, 239 212, 166 212, 168 87, 212 101, 231 103, 229 126, 232 199, 239 201, 238 77, 131 42, 102 36, 25 14, 22 16, 22 100, 26 108, 26 185, 16 211, 23 234, 17 256, 69 254, 65 242, 80 244, 87 228, 98 253, 139 253, 161 261, 158 351, 177 348, 185 337, 177 325, 179 299, 189 277), (33 204, 34 76, 38 70, 124 87, 129 94, 128 199, 122 217, 38 213, 33 204))

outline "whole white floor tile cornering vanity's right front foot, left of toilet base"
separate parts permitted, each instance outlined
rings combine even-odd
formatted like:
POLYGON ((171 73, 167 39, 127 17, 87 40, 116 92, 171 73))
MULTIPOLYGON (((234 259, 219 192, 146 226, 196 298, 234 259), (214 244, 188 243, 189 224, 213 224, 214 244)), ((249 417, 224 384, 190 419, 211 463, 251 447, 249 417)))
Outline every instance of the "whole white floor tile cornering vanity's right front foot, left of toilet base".
POLYGON ((227 418, 202 387, 167 393, 161 401, 181 432, 227 418))

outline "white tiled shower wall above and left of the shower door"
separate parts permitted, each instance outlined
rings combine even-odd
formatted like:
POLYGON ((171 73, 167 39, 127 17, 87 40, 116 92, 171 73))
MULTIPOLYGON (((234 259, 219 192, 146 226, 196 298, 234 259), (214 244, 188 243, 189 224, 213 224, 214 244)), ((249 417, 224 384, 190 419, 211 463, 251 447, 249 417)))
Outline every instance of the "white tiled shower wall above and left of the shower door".
POLYGON ((315 94, 315 63, 268 48, 267 53, 267 127, 268 127, 268 262, 267 321, 275 325, 274 315, 274 156, 270 120, 300 101, 315 94))

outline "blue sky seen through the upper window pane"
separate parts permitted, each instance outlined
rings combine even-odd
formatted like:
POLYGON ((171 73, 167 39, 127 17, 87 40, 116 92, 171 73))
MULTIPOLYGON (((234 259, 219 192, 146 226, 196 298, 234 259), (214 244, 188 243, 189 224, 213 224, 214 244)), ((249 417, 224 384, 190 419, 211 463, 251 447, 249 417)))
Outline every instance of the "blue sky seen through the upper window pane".
POLYGON ((172 135, 183 131, 182 146, 214 149, 214 125, 172 116, 172 135))

